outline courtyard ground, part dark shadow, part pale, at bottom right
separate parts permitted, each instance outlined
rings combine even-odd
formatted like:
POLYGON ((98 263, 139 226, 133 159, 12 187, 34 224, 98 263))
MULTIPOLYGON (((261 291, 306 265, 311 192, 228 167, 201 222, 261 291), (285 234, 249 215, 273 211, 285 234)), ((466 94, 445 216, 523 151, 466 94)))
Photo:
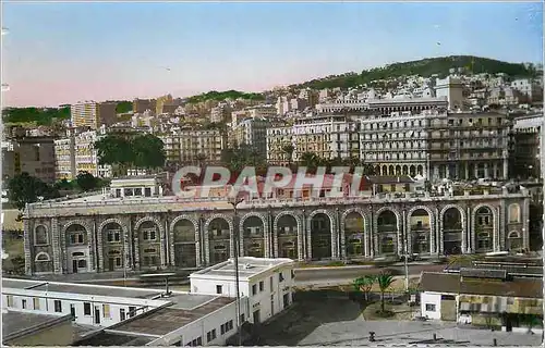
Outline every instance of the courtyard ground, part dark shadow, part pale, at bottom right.
MULTIPOLYGON (((373 296, 374 300, 377 295, 373 296)), ((388 301, 389 302, 389 301, 388 301)), ((399 302, 396 298, 393 302, 399 302)), ((388 306, 388 304, 387 304, 388 306)), ((541 346, 542 335, 492 332, 451 322, 365 320, 365 307, 341 291, 308 291, 259 332, 265 346, 541 346), (312 294, 315 293, 315 294, 312 294), (370 343, 370 332, 375 341, 370 343), (434 334, 436 340, 434 340, 434 334)), ((396 315, 397 316, 397 315, 396 315)))

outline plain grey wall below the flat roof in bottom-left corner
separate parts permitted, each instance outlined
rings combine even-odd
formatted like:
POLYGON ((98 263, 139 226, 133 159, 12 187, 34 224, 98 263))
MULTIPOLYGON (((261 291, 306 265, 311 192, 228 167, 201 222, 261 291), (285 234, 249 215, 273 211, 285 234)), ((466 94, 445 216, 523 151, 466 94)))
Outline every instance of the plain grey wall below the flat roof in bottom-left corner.
POLYGON ((15 338, 2 344, 10 346, 70 346, 74 341, 74 327, 71 321, 15 338))

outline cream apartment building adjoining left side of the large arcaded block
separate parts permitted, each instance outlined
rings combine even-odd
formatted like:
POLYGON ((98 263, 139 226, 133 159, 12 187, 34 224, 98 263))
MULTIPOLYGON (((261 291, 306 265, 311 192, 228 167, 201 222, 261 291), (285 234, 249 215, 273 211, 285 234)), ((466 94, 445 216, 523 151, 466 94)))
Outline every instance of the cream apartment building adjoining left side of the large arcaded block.
POLYGON ((299 117, 291 127, 267 129, 267 159, 274 163, 287 161, 283 147, 288 144, 294 147, 293 161, 305 152, 324 159, 358 157, 359 128, 360 124, 346 115, 299 117))

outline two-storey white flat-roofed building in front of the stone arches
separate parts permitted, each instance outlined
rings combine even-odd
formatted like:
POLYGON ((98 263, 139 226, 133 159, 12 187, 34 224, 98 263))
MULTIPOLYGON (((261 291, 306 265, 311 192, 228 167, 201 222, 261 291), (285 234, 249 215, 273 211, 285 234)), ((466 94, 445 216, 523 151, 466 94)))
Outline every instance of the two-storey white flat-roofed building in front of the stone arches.
MULTIPOLYGON (((247 297, 247 321, 263 323, 293 303, 293 260, 239 258, 239 293, 247 297)), ((234 259, 190 275, 191 291, 235 297, 234 259)))

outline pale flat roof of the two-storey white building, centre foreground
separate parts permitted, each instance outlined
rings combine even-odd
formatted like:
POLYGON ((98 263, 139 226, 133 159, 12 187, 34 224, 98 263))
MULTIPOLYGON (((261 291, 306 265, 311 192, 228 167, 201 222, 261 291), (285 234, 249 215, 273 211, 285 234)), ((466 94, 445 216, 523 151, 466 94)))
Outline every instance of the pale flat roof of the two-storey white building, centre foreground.
MULTIPOLYGON (((266 259, 266 258, 252 258, 244 257, 239 258, 239 277, 250 278, 259 273, 266 272, 268 270, 275 269, 279 265, 294 264, 291 259, 266 259)), ((216 265, 209 266, 207 269, 193 272, 190 275, 201 276, 201 275, 213 275, 218 277, 234 277, 234 259, 229 259, 225 262, 218 263, 216 265)))

